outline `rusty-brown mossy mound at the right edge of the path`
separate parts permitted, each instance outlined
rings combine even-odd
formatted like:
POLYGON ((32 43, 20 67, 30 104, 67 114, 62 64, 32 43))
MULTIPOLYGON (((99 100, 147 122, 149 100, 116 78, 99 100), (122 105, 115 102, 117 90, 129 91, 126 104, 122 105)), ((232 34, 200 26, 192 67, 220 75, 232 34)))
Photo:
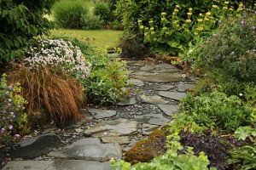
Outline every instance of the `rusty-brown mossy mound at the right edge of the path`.
POLYGON ((131 150, 125 153, 125 161, 133 163, 148 162, 155 156, 166 152, 166 129, 156 129, 148 136, 135 144, 131 150))

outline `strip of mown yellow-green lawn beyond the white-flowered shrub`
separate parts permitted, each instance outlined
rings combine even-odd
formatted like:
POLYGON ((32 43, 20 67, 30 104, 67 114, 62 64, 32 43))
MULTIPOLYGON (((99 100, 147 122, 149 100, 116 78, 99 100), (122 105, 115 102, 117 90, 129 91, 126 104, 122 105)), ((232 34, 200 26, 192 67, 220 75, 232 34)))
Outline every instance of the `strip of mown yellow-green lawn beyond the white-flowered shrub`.
POLYGON ((76 37, 81 41, 90 42, 96 47, 101 48, 113 48, 117 46, 119 37, 123 31, 111 31, 111 30, 67 30, 58 29, 52 30, 51 36, 53 37, 76 37))

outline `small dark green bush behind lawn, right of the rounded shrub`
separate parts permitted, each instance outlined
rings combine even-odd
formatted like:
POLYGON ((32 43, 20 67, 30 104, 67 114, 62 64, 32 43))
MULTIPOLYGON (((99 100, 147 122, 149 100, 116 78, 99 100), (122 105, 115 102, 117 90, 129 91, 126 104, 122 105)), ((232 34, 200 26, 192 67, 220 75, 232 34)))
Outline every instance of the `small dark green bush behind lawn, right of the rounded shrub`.
POLYGON ((96 3, 94 7, 94 14, 99 16, 104 24, 109 24, 113 20, 113 16, 108 3, 96 3))

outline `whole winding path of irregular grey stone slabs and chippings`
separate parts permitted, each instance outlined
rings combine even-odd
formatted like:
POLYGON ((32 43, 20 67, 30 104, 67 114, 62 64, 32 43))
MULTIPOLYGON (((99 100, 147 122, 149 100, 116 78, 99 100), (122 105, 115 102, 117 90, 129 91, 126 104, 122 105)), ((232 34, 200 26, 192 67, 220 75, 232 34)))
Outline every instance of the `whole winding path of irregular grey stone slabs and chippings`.
POLYGON ((2 152, 3 170, 108 170, 139 139, 171 121, 191 77, 165 63, 127 61, 131 94, 109 108, 87 108, 87 118, 64 130, 44 129, 2 152))

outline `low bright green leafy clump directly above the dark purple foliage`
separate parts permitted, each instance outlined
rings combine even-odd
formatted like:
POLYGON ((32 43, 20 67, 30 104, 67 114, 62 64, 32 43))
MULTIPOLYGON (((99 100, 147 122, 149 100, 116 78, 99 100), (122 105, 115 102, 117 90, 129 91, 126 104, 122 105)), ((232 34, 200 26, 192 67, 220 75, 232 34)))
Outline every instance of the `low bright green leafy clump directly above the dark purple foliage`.
POLYGON ((205 127, 234 132, 237 127, 250 124, 252 108, 237 96, 228 97, 214 91, 183 99, 181 110, 193 121, 205 127))

